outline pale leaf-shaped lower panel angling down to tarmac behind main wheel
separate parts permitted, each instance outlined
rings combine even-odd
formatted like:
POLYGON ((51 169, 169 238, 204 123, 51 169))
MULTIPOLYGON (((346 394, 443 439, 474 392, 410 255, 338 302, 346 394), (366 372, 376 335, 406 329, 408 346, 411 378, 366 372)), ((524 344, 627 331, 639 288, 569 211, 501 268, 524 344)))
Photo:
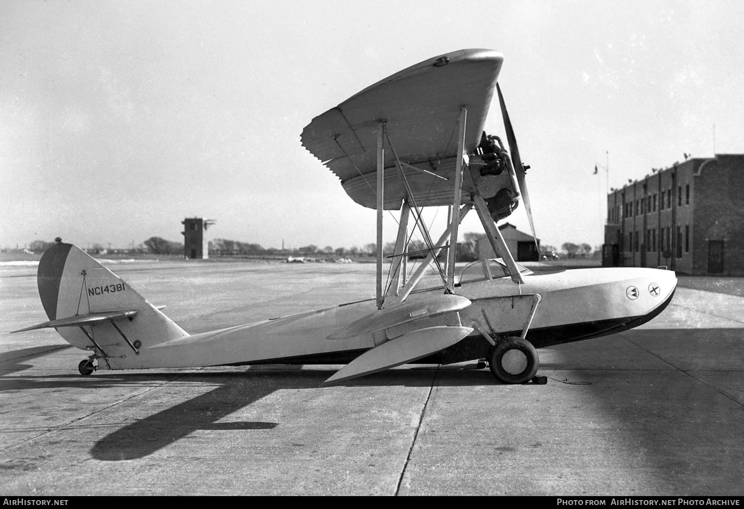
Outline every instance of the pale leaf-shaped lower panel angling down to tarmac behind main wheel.
POLYGON ((344 368, 336 371, 336 374, 323 382, 323 385, 344 382, 423 359, 455 345, 469 333, 472 333, 472 327, 440 326, 414 330, 362 353, 344 368))

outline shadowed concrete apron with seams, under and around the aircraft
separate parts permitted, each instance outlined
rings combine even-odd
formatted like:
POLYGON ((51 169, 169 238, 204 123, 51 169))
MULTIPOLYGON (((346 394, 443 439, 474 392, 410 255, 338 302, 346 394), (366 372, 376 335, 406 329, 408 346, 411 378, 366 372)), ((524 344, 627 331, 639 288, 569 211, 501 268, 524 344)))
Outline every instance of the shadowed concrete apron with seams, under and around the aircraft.
MULTIPOLYGON (((366 270, 217 263, 126 279, 198 332, 353 300, 372 288, 366 270)), ((4 330, 40 321, 28 320, 27 306, 40 310, 32 283, 3 281, 4 330)), ((54 331, 13 335, 0 362, 0 490, 740 495, 742 309, 744 298, 680 288, 644 327, 539 350, 548 385, 499 385, 474 365, 330 388, 318 385, 340 366, 80 377, 84 353, 54 331)))

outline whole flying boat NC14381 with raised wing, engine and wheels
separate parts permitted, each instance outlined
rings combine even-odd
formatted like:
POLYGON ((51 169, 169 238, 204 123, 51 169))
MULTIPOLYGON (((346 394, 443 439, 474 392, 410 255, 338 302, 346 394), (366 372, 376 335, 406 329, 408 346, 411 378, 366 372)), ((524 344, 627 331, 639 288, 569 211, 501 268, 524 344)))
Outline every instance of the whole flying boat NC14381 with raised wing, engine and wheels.
POLYGON ((484 49, 425 60, 329 109, 302 132, 304 147, 339 177, 348 195, 376 209, 375 299, 189 334, 109 269, 59 240, 38 270, 49 321, 22 330, 54 327, 71 345, 89 350, 81 374, 345 364, 324 382, 331 384, 411 362, 487 359, 498 380, 522 383, 536 375, 536 348, 649 321, 670 303, 674 272, 535 274, 513 260, 496 222, 522 201, 533 234, 534 225, 527 166, 497 83, 502 62, 501 54, 484 49), (509 150, 484 132, 495 91, 509 150), (449 208, 449 220, 434 240, 422 214, 439 206, 449 208), (475 261, 456 274, 458 225, 473 208, 498 258, 475 261), (388 263, 382 252, 385 211, 400 211, 388 263), (423 238, 416 253, 408 250, 414 231, 423 238), (409 268, 412 254, 422 253, 423 263, 409 268))

